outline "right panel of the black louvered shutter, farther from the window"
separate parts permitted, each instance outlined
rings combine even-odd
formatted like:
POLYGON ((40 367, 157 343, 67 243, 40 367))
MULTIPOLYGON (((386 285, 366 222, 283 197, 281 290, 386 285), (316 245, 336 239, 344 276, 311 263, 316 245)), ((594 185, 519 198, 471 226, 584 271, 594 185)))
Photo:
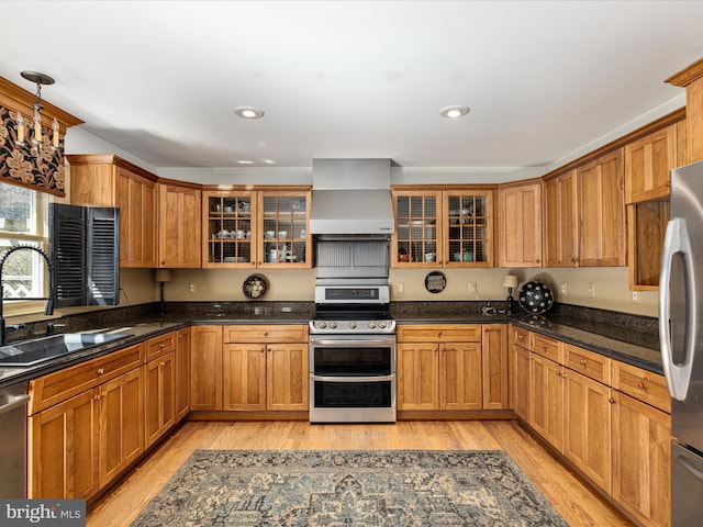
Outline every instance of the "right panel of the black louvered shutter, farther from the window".
POLYGON ((88 305, 120 303, 120 209, 88 209, 88 305))

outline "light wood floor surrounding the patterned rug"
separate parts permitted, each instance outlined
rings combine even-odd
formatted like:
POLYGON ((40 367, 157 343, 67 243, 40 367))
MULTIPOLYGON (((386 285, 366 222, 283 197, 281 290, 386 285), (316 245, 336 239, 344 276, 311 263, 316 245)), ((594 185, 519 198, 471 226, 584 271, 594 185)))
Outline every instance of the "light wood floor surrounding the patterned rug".
POLYGON ((514 422, 186 423, 88 511, 88 527, 129 526, 196 449, 505 450, 569 526, 629 526, 514 422))

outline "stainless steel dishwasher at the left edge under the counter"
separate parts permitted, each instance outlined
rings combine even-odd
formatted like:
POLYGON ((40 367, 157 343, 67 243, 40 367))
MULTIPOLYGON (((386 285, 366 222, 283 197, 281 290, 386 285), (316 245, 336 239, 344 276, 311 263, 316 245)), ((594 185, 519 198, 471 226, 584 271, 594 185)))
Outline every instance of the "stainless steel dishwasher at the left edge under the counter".
POLYGON ((26 384, 0 388, 0 498, 26 497, 26 384))

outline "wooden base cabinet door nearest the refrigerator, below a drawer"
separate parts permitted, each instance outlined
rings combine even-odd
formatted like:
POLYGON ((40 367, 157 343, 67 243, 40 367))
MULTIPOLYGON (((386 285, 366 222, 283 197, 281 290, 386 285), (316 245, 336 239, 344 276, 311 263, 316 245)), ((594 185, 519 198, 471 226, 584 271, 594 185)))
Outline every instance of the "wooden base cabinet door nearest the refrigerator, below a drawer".
POLYGON ((613 390, 613 498, 641 525, 671 525, 671 416, 613 390))

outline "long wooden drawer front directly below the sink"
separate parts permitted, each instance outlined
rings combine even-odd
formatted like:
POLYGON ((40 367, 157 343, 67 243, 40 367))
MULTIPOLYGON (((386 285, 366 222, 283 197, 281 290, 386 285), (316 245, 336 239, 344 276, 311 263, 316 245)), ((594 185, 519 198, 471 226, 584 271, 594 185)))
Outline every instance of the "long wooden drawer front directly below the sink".
POLYGON ((30 415, 142 366, 144 343, 30 381, 30 415))

